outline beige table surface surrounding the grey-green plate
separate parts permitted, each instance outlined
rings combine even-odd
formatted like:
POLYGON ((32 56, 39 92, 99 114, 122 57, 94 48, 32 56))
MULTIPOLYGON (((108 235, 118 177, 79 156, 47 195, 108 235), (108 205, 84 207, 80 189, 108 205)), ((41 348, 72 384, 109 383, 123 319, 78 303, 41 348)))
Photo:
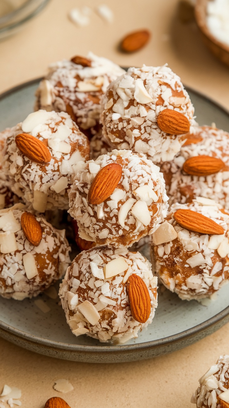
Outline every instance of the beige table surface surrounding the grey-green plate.
MULTIPOLYGON (((46 73, 49 63, 89 50, 122 66, 160 65, 180 75, 182 82, 229 109, 229 69, 200 40, 194 23, 181 24, 178 0, 107 0, 113 24, 93 13, 87 27, 67 18, 73 7, 93 9, 100 0, 52 0, 23 31, 0 42, 0 92, 46 73), (152 32, 138 53, 116 50, 125 33, 138 28, 152 32)), ((52 396, 71 408, 162 407, 191 408, 199 377, 220 354, 229 354, 229 324, 213 335, 176 353, 125 364, 83 364, 44 357, 0 339, 0 388, 22 390, 22 407, 43 408, 52 396), (74 390, 53 390, 55 379, 68 379, 74 390)))

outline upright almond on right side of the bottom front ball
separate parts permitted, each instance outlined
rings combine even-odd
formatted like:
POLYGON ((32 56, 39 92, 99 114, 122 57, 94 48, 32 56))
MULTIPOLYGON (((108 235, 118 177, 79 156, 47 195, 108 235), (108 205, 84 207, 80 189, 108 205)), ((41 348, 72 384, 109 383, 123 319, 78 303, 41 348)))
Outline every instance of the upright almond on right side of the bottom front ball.
POLYGON ((128 278, 127 292, 131 315, 137 322, 147 322, 151 311, 151 303, 149 290, 140 276, 133 273, 128 278))

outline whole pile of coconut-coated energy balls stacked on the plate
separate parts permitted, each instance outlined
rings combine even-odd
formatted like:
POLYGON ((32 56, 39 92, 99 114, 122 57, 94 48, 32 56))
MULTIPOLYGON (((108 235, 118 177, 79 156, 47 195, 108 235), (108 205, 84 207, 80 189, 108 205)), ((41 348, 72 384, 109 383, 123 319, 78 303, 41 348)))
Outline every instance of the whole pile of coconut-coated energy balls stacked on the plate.
POLYGON ((123 343, 152 322, 157 277, 182 299, 218 290, 229 279, 229 139, 196 124, 180 78, 89 53, 53 64, 36 96, 36 111, 0 134, 2 296, 36 296, 66 273, 73 334, 123 343), (64 230, 47 221, 63 210, 82 250, 70 266, 64 230), (147 236, 157 276, 131 252, 147 236))

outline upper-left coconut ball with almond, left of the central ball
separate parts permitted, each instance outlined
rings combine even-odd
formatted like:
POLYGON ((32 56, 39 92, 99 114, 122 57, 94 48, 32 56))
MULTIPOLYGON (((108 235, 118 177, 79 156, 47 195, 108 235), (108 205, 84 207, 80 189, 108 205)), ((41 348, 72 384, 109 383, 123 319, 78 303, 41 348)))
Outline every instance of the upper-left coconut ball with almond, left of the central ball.
POLYGON ((68 189, 89 159, 89 141, 65 113, 37 111, 11 129, 4 173, 34 210, 68 209, 68 189))

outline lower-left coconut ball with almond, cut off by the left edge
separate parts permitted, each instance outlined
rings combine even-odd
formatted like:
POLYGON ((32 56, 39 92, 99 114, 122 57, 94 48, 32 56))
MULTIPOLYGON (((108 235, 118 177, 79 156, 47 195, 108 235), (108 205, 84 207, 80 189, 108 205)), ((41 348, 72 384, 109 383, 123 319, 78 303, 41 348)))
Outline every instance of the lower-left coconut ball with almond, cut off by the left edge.
POLYGON ((65 231, 34 216, 23 204, 0 211, 0 295, 37 296, 60 279, 69 263, 65 231))

